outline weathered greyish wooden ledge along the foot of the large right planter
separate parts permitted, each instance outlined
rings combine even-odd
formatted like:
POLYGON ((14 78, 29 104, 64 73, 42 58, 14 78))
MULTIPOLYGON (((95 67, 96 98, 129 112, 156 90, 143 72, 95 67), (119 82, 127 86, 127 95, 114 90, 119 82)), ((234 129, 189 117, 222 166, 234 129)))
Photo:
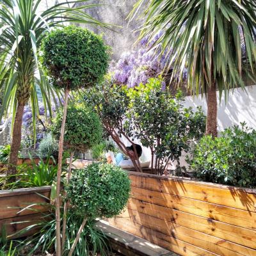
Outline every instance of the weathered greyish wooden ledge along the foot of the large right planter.
POLYGON ((177 253, 113 227, 107 221, 100 220, 96 227, 108 237, 113 250, 125 256, 179 256, 177 253))

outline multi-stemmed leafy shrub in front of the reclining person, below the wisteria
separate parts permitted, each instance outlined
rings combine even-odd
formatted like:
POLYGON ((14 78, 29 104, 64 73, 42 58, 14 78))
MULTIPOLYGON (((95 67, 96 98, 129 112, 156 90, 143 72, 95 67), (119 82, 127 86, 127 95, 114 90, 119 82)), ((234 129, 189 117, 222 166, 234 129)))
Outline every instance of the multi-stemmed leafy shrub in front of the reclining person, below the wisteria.
POLYGON ((142 171, 138 156, 130 156, 122 137, 131 144, 140 140, 150 148, 151 168, 163 174, 168 162, 179 164, 182 151, 187 152, 189 143, 204 133, 202 109, 193 112, 184 108, 182 95, 172 95, 161 79, 150 78, 134 88, 106 81, 88 90, 84 99, 97 111, 120 150, 131 157, 137 171, 142 171))

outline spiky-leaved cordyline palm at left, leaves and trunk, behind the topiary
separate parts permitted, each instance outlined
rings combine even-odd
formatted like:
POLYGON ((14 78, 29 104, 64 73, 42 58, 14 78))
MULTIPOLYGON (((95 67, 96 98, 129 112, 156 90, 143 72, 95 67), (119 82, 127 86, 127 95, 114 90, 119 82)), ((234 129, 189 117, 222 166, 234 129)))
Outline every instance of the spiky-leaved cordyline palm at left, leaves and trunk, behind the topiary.
POLYGON ((67 0, 43 12, 40 7, 42 2, 44 1, 0 1, 0 93, 3 95, 0 120, 4 114, 11 115, 13 120, 8 168, 8 175, 12 177, 15 177, 13 174, 16 172, 24 106, 28 102, 31 104, 35 129, 35 120, 38 115, 36 86, 40 88, 45 109, 49 109, 50 114, 50 98, 57 92, 51 84, 47 83, 38 63, 38 47, 45 37, 45 32, 50 31, 51 28, 63 26, 63 22, 104 25, 84 13, 84 10, 94 7, 95 4, 68 7, 68 4, 83 3, 86 0, 67 0))

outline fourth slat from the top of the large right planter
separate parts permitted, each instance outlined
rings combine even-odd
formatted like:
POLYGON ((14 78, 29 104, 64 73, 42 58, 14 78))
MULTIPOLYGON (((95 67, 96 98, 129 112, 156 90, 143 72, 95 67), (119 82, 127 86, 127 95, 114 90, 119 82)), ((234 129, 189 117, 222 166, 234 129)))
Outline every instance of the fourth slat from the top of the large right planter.
POLYGON ((218 237, 209 236, 191 228, 182 227, 170 221, 164 221, 159 218, 143 214, 141 212, 126 209, 125 212, 117 216, 121 221, 131 221, 144 227, 156 230, 172 236, 186 243, 194 244, 200 248, 216 253, 221 256, 255 256, 256 250, 231 243, 218 237))

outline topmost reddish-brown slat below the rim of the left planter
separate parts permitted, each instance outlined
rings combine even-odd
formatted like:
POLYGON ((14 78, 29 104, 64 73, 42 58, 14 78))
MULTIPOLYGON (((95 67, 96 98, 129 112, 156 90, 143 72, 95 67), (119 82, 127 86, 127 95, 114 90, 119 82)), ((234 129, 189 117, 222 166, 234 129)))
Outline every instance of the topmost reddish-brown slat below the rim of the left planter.
POLYGON ((47 211, 49 207, 47 207, 46 203, 49 204, 49 201, 43 196, 49 198, 50 192, 40 193, 40 195, 29 194, 29 195, 1 197, 0 198, 0 205, 1 205, 0 220, 12 218, 15 216, 36 214, 40 211, 42 212, 47 211), (32 205, 32 206, 29 207, 29 205, 32 205), (28 207, 29 209, 23 210, 25 207, 28 207))

